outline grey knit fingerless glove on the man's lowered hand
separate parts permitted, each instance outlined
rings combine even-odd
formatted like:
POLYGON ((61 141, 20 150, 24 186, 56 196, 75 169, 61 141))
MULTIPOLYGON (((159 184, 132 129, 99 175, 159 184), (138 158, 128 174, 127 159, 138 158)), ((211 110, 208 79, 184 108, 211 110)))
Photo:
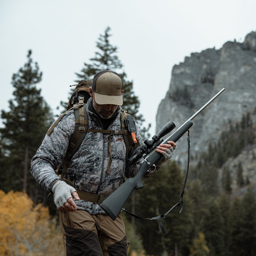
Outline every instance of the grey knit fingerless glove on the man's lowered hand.
POLYGON ((72 197, 72 193, 75 191, 76 189, 69 186, 65 181, 56 182, 52 187, 52 192, 54 193, 54 203, 57 208, 68 202, 68 198, 72 197))

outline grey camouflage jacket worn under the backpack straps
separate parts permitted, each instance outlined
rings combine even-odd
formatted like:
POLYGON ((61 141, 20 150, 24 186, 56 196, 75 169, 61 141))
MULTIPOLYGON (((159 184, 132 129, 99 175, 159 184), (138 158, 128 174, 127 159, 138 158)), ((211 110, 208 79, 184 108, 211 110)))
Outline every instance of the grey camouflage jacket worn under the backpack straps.
MULTIPOLYGON (((88 114, 88 128, 103 129, 100 119, 92 111, 92 99, 86 104, 88 114)), ((109 125, 108 130, 121 130, 120 112, 116 119, 109 125)), ((135 132, 137 139, 142 145, 139 127, 136 124, 135 132)), ((56 180, 61 180, 54 170, 56 170, 65 157, 68 143, 75 129, 74 111, 70 110, 56 125, 50 135, 45 136, 36 155, 31 161, 31 172, 37 182, 49 192, 56 180)), ((124 182, 124 175, 127 178, 133 177, 138 172, 141 165, 140 160, 130 165, 125 162, 126 147, 121 134, 87 132, 80 148, 72 157, 67 172, 66 179, 70 180, 76 189, 100 194, 110 195, 116 188, 124 182), (110 153, 108 140, 111 141, 112 163, 110 173, 107 173, 110 153)), ((136 146, 134 145, 134 149, 136 146)), ((159 169, 159 168, 158 168, 159 169)), ((153 173, 148 173, 147 176, 153 173)), ((78 209, 86 210, 90 214, 106 214, 98 204, 76 201, 78 209)))

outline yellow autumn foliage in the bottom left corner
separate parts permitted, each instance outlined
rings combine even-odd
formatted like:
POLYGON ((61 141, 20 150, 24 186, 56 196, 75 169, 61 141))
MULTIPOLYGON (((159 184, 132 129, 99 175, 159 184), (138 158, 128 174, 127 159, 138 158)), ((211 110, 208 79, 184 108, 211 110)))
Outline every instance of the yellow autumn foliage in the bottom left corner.
POLYGON ((63 255, 61 234, 47 207, 23 192, 0 190, 0 255, 63 255))

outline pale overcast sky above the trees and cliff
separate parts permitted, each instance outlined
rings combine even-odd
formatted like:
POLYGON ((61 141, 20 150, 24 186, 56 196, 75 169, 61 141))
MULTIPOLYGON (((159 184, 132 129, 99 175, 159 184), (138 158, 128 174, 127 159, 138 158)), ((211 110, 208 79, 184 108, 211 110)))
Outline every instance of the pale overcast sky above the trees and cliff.
POLYGON ((255 10, 255 0, 0 0, 0 109, 8 110, 12 74, 29 49, 43 72, 38 88, 44 99, 53 110, 67 101, 75 72, 94 57, 109 26, 153 136, 161 128, 155 127, 156 111, 172 67, 192 52, 243 42, 256 31, 255 10))

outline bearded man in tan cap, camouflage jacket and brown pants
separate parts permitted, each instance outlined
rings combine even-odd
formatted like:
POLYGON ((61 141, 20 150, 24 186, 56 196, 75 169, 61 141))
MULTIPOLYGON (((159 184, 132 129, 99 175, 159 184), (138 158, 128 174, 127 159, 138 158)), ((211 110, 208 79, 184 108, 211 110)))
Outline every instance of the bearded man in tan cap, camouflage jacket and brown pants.
MULTIPOLYGON (((89 93, 91 98, 86 104, 88 128, 121 130, 121 77, 115 72, 101 71, 94 76, 89 93)), ((69 186, 54 170, 66 154, 74 127, 75 116, 71 110, 62 117, 53 132, 45 136, 32 158, 31 172, 44 189, 54 193, 54 203, 60 210, 66 255, 127 255, 121 213, 115 221, 111 220, 94 196, 98 198, 100 195, 104 199, 124 182, 124 176, 136 175, 141 159, 132 165, 125 161, 125 135, 87 132, 64 176, 74 187, 69 186), (82 191, 84 197, 79 198, 76 190, 82 191)), ((137 124, 135 135, 142 145, 137 124)), ((156 148, 163 156, 155 163, 155 171, 173 155, 175 147, 176 143, 169 141, 156 148)), ((135 148, 134 145, 133 150, 135 148)), ((148 172, 145 178, 154 172, 148 172)))

